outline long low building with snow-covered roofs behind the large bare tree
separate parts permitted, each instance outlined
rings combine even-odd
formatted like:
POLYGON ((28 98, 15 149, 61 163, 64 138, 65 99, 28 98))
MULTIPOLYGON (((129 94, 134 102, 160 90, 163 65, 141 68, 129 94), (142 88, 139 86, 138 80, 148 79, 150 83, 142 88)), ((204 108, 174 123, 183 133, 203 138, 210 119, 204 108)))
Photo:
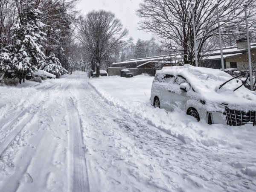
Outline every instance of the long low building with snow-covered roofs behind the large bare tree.
MULTIPOLYGON (((251 44, 251 61, 252 65, 256 64, 256 43, 251 44)), ((236 41, 236 46, 223 48, 224 68, 237 70, 248 70, 248 50, 246 39, 236 41)), ((162 55, 148 58, 130 59, 127 61, 113 63, 108 68, 109 76, 120 75, 120 70, 128 69, 134 76, 142 73, 148 73, 154 76, 156 70, 160 70, 165 66, 174 66, 181 59, 178 54, 162 55)), ((200 67, 221 69, 221 52, 220 49, 209 51, 203 55, 199 62, 200 67)))

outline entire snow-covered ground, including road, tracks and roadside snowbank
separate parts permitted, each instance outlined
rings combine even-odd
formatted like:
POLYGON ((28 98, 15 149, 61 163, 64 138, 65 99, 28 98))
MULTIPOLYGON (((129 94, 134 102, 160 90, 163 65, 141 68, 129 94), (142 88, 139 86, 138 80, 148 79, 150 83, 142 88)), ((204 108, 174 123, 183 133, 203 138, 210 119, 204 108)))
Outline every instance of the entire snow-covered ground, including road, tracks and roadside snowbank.
POLYGON ((152 81, 77 71, 0 87, 0 191, 256 191, 256 128, 155 109, 152 81))

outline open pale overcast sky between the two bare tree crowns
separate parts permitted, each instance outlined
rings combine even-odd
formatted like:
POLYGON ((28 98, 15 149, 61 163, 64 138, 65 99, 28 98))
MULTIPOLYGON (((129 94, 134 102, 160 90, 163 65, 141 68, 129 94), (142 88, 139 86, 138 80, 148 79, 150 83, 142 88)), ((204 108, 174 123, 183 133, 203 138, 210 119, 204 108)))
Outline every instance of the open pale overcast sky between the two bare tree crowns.
POLYGON ((137 29, 140 18, 137 17, 135 10, 139 8, 140 2, 142 0, 81 0, 77 9, 81 10, 84 15, 93 9, 103 9, 115 13, 123 26, 129 30, 129 36, 133 37, 136 42, 138 38, 149 40, 152 36, 151 33, 137 29))

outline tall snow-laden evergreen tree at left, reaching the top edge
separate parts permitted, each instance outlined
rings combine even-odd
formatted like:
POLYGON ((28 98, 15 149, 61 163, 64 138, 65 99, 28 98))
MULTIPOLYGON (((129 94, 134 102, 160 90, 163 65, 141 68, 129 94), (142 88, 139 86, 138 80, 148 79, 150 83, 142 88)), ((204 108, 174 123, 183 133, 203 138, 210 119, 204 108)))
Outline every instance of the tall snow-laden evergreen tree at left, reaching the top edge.
POLYGON ((41 42, 44 33, 40 28, 44 25, 39 19, 41 12, 36 9, 32 0, 26 0, 21 6, 20 20, 12 27, 14 31, 12 41, 8 47, 11 68, 20 79, 27 73, 37 70, 37 66, 44 60, 41 42))

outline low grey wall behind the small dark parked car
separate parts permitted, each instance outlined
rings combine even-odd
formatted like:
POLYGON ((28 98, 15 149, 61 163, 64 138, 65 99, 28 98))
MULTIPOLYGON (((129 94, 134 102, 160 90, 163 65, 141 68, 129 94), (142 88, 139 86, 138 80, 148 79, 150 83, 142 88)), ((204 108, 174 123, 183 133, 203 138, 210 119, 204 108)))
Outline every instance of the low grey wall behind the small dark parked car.
POLYGON ((138 69, 138 68, 122 68, 122 67, 108 67, 108 76, 120 76, 120 70, 128 69, 134 76, 140 75, 142 73, 148 73, 150 76, 155 75, 154 69, 138 69))

